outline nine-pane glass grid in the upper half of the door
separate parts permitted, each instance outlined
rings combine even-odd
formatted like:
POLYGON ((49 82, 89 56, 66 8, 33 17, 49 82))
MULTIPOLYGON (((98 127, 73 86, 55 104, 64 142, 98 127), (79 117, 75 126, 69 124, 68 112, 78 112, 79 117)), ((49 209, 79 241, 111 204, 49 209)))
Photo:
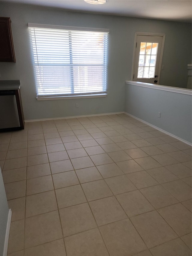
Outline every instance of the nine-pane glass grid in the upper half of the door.
POLYGON ((157 61, 158 43, 141 42, 137 78, 153 78, 157 61))

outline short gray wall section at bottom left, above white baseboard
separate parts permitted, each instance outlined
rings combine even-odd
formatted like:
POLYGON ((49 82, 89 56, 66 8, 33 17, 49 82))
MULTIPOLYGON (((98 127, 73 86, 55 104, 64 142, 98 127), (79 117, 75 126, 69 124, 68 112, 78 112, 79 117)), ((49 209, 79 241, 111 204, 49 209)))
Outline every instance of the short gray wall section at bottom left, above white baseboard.
POLYGON ((0 167, 0 255, 3 255, 8 212, 9 208, 0 167))

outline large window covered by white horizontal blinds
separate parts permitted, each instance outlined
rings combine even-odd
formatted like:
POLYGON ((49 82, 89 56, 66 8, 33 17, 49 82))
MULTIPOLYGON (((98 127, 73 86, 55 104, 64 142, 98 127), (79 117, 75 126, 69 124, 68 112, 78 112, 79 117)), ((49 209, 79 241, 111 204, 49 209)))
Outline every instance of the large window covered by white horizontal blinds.
POLYGON ((107 94, 108 29, 28 26, 37 99, 107 94))

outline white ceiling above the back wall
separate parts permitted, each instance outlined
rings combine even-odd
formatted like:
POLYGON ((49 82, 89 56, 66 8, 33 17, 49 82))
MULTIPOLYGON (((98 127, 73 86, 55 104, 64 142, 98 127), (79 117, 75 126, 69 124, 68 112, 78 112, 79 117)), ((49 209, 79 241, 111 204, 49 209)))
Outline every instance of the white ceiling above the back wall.
POLYGON ((83 0, 7 0, 6 2, 61 8, 67 11, 188 23, 192 19, 191 0, 109 0, 103 5, 92 5, 83 0))

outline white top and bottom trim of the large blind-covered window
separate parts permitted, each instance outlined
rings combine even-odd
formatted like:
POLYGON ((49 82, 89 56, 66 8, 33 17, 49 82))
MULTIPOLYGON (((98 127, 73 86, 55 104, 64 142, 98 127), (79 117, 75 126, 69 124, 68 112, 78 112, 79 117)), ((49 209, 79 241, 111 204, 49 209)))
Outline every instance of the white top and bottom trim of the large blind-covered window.
MULTIPOLYGON (((28 27, 34 28, 50 28, 50 29, 66 29, 66 30, 76 30, 76 31, 92 31, 92 32, 104 32, 109 33, 109 29, 101 29, 101 28, 88 28, 88 27, 74 27, 74 26, 61 26, 61 25, 50 25, 50 24, 41 24, 41 23, 28 23, 28 27)), ((61 99, 76 99, 76 98, 101 98, 107 96, 107 90, 104 93, 95 93, 89 95, 67 95, 67 96, 37 96, 36 99, 38 101, 45 101, 45 100, 61 100, 61 99)))

